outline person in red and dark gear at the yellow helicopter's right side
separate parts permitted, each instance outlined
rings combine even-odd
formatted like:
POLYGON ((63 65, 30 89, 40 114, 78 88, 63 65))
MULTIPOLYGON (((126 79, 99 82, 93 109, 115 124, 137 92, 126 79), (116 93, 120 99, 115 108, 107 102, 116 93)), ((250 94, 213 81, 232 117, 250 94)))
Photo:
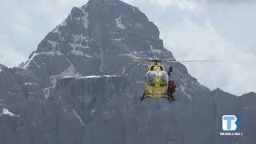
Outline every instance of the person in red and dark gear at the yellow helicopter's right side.
POLYGON ((169 82, 168 82, 168 90, 167 90, 167 95, 168 95, 168 100, 170 102, 175 102, 175 98, 174 98, 174 92, 176 91, 176 83, 171 80, 170 78, 170 74, 173 72, 173 68, 170 67, 169 71, 168 71, 168 76, 169 76, 169 82))

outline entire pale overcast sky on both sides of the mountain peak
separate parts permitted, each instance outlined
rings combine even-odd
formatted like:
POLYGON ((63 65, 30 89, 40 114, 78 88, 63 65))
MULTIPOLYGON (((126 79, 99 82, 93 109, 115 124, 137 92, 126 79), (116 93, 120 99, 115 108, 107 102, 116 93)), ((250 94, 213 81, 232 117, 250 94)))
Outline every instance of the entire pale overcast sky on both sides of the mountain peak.
MULTIPOLYGON (((0 6, 0 63, 25 62, 44 36, 86 0, 3 0, 0 6)), ((166 48, 211 90, 256 91, 256 1, 124 0, 137 6, 161 31, 166 48)))

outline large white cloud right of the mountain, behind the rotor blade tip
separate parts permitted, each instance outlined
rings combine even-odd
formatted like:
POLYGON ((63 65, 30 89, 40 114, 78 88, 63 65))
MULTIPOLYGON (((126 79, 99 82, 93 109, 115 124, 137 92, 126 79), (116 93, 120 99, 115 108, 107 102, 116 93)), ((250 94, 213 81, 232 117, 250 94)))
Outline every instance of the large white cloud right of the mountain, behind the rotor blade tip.
POLYGON ((162 38, 171 46, 174 57, 181 60, 212 59, 210 63, 184 63, 191 75, 199 82, 232 94, 256 91, 256 57, 246 47, 238 46, 222 38, 218 30, 206 19, 205 25, 185 18, 171 28, 162 29, 162 38))

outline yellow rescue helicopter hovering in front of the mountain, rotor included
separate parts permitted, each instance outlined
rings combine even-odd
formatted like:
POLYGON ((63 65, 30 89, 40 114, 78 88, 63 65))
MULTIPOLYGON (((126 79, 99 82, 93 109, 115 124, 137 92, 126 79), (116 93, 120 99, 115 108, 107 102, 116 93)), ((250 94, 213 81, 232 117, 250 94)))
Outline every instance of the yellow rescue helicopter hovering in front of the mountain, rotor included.
POLYGON ((137 61, 147 61, 150 64, 147 66, 146 78, 145 78, 145 91, 140 98, 142 102, 145 98, 167 98, 169 102, 174 102, 174 92, 176 85, 174 81, 170 80, 170 73, 173 71, 170 67, 169 71, 166 72, 164 66, 160 62, 209 62, 209 61, 176 61, 174 59, 159 58, 154 59, 135 59, 137 61))

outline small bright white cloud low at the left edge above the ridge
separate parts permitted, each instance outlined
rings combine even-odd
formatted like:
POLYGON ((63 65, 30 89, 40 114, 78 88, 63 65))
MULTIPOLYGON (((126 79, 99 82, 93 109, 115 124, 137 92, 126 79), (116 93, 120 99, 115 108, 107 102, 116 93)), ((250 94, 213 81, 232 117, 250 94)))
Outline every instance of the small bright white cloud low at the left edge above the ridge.
POLYGON ((24 55, 14 50, 8 38, 0 34, 0 63, 5 66, 18 66, 20 62, 24 62, 26 58, 24 55))

